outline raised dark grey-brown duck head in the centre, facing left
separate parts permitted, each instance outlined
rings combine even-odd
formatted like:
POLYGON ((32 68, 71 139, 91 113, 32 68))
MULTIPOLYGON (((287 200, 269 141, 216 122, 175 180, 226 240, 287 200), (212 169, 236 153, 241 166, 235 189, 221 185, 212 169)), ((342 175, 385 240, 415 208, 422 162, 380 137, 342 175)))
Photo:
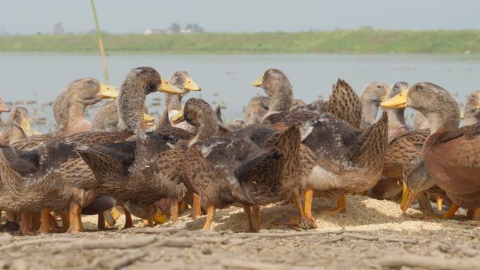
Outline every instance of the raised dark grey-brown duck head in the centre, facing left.
POLYGON ((269 112, 287 112, 291 109, 292 85, 280 69, 267 69, 252 85, 263 88, 270 97, 269 112))

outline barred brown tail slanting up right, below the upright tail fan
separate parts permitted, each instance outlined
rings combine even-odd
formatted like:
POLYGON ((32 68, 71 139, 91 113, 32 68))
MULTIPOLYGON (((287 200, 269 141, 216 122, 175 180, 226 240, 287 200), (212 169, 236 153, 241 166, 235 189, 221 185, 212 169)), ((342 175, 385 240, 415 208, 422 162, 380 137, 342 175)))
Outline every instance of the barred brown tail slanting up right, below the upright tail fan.
POLYGON ((357 140, 358 149, 352 157, 354 163, 361 167, 383 168, 383 158, 388 147, 388 116, 382 116, 372 126, 366 128, 357 140))

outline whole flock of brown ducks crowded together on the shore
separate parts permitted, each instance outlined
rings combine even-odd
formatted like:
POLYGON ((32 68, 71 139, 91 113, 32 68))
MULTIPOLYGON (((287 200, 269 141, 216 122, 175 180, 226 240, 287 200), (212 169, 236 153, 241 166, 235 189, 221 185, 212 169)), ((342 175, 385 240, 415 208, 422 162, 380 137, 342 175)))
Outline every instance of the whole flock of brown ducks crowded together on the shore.
POLYGON ((131 214, 154 226, 164 215, 178 221, 191 207, 193 218, 206 215, 208 230, 216 209, 239 205, 258 231, 262 205, 294 203, 298 216, 276 224, 310 229, 314 213, 345 212, 348 194, 366 194, 401 198, 402 210, 416 198, 429 216, 436 201, 439 210, 450 206, 444 218, 462 207, 480 220, 480 91, 469 96, 459 128, 458 103, 433 83, 374 81, 359 97, 339 79, 328 100, 309 104, 293 99, 279 69, 253 86, 267 97, 253 97, 246 121, 227 124, 204 100, 182 107, 182 97, 201 90, 185 71, 167 81, 139 67, 118 90, 78 79, 55 100, 59 128, 48 134, 32 130, 26 109, 10 112, 0 99, 0 112, 10 112, 0 137, 0 210, 22 234, 36 234, 84 231, 81 215, 98 214, 104 229, 114 206, 123 207, 125 227, 133 227, 131 214), (145 97, 158 91, 167 109, 151 128, 145 97), (102 99, 109 101, 90 123, 85 109, 102 99), (406 124, 406 107, 424 116, 422 128, 406 124), (312 209, 314 196, 338 202, 312 209))

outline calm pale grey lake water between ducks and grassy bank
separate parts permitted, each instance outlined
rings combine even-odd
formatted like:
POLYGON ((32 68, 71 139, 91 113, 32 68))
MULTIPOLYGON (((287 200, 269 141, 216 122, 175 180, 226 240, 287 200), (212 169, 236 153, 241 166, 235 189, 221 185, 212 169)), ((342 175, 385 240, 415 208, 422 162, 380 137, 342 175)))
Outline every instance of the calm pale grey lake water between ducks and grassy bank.
MULTIPOLYGON (((244 105, 262 94, 251 82, 270 67, 283 70, 295 97, 306 101, 328 98, 338 78, 358 93, 369 81, 430 81, 457 94, 459 102, 480 89, 479 55, 109 55, 107 63, 111 84, 116 86, 134 67, 151 66, 164 77, 185 69, 203 88, 188 97, 223 102, 225 119, 242 118, 244 105)), ((85 76, 104 81, 100 55, 0 53, 0 96, 8 102, 36 100, 25 107, 34 117, 47 119, 46 125, 36 126, 43 132, 53 128, 53 113, 46 103, 55 100, 70 81, 85 76)), ((155 97, 163 95, 149 95, 147 104, 155 97)), ((152 114, 163 111, 163 107, 149 109, 152 114)))

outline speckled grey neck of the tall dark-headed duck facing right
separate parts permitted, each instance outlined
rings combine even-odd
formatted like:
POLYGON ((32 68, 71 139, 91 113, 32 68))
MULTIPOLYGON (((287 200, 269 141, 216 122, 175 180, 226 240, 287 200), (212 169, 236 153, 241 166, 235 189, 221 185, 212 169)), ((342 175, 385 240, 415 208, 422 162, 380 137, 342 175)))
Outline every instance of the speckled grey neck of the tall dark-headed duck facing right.
POLYGON ((133 90, 126 82, 121 87, 121 93, 118 97, 118 112, 120 130, 127 130, 134 134, 143 133, 143 112, 145 105, 145 92, 143 90, 133 90))

